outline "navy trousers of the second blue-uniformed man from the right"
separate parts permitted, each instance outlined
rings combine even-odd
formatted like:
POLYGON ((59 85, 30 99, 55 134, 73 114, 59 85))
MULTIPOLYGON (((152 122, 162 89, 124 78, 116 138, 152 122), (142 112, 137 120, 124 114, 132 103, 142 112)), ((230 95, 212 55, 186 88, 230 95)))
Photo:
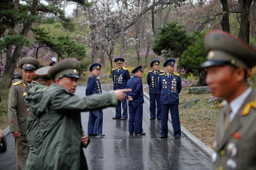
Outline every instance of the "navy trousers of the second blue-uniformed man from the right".
POLYGON ((149 99, 150 99, 150 118, 161 118, 161 94, 150 94, 149 93, 149 99), (156 109, 157 106, 157 109, 156 109))

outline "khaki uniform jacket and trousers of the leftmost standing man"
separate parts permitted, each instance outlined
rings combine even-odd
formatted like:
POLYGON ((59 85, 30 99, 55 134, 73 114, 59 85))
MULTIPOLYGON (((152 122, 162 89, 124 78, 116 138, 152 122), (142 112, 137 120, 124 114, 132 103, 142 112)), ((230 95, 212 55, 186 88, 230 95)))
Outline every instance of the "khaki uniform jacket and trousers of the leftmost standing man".
MULTIPOLYGON (((34 83, 33 83, 34 86, 34 83)), ((18 169, 25 169, 28 154, 28 144, 26 139, 27 106, 25 97, 29 87, 24 80, 12 84, 9 90, 8 115, 10 132, 19 131, 20 137, 15 139, 15 151, 18 169)))

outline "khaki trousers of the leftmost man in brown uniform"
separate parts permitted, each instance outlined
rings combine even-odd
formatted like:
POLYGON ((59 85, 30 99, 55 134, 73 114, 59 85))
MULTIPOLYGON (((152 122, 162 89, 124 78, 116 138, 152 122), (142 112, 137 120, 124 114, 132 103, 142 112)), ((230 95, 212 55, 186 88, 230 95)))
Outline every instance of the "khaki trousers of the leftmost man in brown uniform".
POLYGON ((28 150, 29 146, 27 143, 26 135, 20 135, 19 138, 15 138, 15 153, 18 170, 25 169, 28 150))

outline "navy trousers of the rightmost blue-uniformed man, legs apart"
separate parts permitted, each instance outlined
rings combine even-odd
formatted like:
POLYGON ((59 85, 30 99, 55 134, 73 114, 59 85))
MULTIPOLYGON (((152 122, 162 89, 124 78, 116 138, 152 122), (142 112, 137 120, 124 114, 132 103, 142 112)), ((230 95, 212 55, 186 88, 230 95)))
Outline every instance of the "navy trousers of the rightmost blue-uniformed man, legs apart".
POLYGON ((167 137, 168 135, 168 112, 171 111, 173 136, 181 137, 180 131, 180 117, 178 105, 161 105, 162 120, 161 120, 161 136, 167 137))

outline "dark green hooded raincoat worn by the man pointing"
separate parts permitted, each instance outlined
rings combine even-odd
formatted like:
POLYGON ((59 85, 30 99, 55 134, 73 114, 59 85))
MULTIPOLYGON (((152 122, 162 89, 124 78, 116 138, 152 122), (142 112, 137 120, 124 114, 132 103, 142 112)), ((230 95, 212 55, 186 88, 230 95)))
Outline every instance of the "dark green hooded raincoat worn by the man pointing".
MULTIPOLYGON (((35 100, 33 100, 35 101, 35 100)), ((51 84, 30 109, 40 117, 42 143, 38 149, 39 169, 87 169, 80 138, 80 112, 103 109, 117 103, 114 92, 80 98, 51 84)))

